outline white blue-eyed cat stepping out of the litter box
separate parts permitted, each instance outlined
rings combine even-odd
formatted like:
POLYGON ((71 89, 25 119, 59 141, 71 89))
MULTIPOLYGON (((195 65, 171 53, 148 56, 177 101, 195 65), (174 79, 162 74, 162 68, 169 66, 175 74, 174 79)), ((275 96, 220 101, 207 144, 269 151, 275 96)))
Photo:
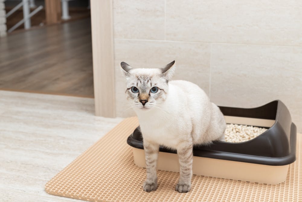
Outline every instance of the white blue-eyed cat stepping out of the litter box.
POLYGON ((175 61, 159 69, 133 69, 120 63, 126 77, 126 98, 133 105, 143 135, 147 179, 144 191, 157 189, 159 145, 175 149, 180 177, 175 191, 191 189, 193 145, 224 141, 226 122, 206 93, 188 81, 170 81, 175 61))

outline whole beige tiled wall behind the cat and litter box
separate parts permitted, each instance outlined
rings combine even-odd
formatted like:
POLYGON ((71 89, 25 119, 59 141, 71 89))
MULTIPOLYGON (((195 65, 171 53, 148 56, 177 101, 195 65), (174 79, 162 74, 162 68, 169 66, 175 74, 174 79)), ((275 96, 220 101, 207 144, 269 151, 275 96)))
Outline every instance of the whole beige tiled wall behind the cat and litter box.
POLYGON ((217 105, 285 103, 302 132, 302 1, 114 0, 117 116, 120 62, 162 67, 198 84, 217 105))

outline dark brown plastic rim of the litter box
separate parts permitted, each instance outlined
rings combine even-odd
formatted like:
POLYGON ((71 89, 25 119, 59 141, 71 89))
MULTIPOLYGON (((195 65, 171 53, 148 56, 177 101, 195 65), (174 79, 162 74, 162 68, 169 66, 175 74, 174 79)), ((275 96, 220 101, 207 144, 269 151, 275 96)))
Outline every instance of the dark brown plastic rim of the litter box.
MULTIPOLYGON (((270 127, 267 131, 265 131, 261 135, 249 141, 245 141, 243 143, 229 143, 229 142, 214 141, 213 144, 210 146, 194 146, 193 155, 199 157, 239 161, 239 162, 246 162, 246 163, 255 163, 255 164, 262 164, 262 165, 280 166, 280 165, 291 164, 296 160, 297 128, 295 124, 291 122, 291 117, 287 107, 280 100, 272 101, 261 107, 265 107, 265 106, 271 107, 273 106, 273 104, 277 104, 277 106, 275 106, 277 107, 276 115, 275 115, 276 116, 275 123, 273 124, 272 127, 270 127), (284 118, 281 115, 283 115, 284 118), (290 125, 289 131, 286 130, 286 127, 288 127, 287 125, 290 125), (276 129, 279 130, 280 132, 276 133, 276 129), (276 144, 278 143, 281 145, 277 145, 277 146, 272 145, 273 143, 269 139, 269 137, 272 136, 281 137, 278 142, 275 142, 276 144), (260 140, 266 141, 266 144, 268 144, 268 146, 271 146, 271 148, 263 145, 261 146, 259 144, 260 140), (246 144, 251 144, 254 146, 252 147, 254 153, 248 153, 249 151, 245 149, 246 144), (276 152, 275 155, 274 154, 268 154, 266 156, 263 155, 263 153, 267 152, 269 149, 271 149, 271 152, 276 152), (261 154, 260 152, 263 153, 261 154)), ((243 109, 243 110, 252 110, 252 109, 258 110, 261 109, 261 107, 248 108, 248 109, 235 108, 235 107, 228 107, 228 108, 243 109)), ((224 108, 226 109, 227 107, 224 108)), ((224 114, 224 115, 232 116, 233 114, 224 114)), ((246 116, 246 117, 250 117, 250 116, 246 116)), ((255 117, 250 117, 250 118, 255 118, 255 117)), ((262 118, 262 117, 258 117, 258 118, 262 118)), ((134 135, 135 133, 140 133, 138 128, 135 129, 134 132, 127 138, 127 143, 130 146, 135 147, 137 149, 143 149, 143 142, 136 139, 138 135, 134 135)), ((175 150, 168 149, 162 146, 160 146, 159 151, 176 153, 175 150)))

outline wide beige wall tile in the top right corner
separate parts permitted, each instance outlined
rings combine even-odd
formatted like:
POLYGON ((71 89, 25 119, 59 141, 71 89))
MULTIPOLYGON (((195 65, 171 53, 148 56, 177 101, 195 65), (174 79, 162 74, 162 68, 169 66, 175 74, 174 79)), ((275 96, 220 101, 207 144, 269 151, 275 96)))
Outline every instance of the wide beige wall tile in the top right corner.
POLYGON ((166 0, 166 39, 302 45, 302 1, 166 0))

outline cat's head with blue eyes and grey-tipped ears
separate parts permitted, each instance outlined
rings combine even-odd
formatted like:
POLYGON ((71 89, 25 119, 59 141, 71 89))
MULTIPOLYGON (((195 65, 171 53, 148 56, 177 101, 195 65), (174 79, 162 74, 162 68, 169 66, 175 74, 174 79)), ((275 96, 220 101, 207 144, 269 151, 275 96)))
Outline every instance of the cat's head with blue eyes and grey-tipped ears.
POLYGON ((127 79, 125 93, 130 105, 144 111, 160 107, 168 95, 168 81, 174 73, 174 63, 158 69, 133 69, 127 63, 120 63, 127 79))

